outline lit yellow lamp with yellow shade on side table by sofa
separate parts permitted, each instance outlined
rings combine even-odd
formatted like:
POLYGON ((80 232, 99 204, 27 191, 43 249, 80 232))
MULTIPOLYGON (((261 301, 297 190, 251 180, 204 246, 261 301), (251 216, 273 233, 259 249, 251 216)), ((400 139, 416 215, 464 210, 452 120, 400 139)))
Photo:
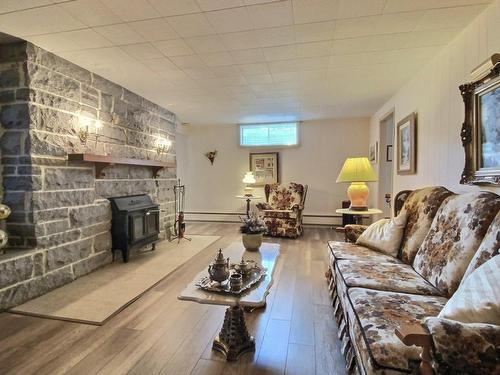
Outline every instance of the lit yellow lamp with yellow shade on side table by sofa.
POLYGON ((370 191, 365 182, 377 181, 377 175, 368 158, 347 158, 337 177, 337 182, 350 182, 347 196, 351 201, 351 210, 366 211, 370 191))

